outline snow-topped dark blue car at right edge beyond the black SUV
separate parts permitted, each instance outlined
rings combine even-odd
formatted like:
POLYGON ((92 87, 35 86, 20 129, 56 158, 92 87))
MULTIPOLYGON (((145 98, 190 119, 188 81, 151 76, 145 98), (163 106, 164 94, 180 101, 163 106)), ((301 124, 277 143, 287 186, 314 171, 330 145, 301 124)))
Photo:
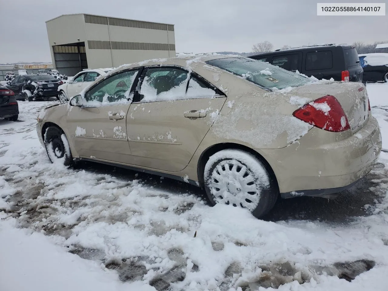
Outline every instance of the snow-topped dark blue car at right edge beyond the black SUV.
POLYGON ((388 53, 360 54, 359 59, 364 69, 364 82, 388 81, 388 53))

